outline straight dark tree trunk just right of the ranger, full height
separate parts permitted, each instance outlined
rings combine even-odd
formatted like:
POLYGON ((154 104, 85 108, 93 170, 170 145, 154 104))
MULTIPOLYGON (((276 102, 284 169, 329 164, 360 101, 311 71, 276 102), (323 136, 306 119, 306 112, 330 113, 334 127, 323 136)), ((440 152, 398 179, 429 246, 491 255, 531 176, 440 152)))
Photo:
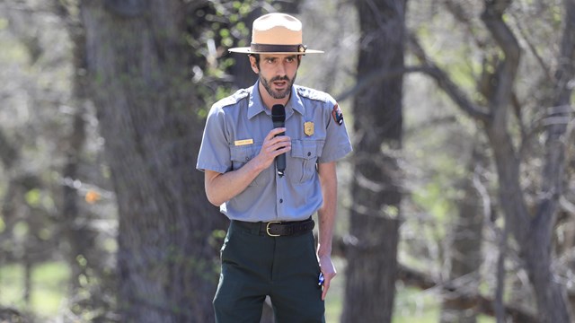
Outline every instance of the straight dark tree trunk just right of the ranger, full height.
MULTIPOLYGON (((358 0, 358 82, 403 67, 405 0, 358 0)), ((399 240, 403 75, 371 83, 354 99, 354 171, 342 322, 390 322, 399 240)))

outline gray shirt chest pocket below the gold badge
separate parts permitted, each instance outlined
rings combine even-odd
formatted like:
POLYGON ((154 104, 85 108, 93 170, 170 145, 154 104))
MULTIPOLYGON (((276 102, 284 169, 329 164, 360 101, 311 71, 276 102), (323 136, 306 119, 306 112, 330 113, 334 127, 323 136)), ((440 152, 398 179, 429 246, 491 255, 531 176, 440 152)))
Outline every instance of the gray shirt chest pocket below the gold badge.
POLYGON ((322 156, 323 141, 293 140, 288 158, 287 176, 293 183, 305 183, 314 179, 315 163, 322 156))

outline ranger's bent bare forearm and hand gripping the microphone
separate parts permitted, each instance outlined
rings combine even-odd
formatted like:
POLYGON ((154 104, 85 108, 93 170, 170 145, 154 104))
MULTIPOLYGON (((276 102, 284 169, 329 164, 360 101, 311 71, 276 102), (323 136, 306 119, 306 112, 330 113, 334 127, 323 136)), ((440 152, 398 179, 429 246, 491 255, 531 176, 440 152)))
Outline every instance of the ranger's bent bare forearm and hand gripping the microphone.
POLYGON ((214 170, 205 170, 205 188, 208 201, 216 206, 224 204, 234 196, 243 192, 250 185, 261 170, 270 167, 276 156, 291 150, 291 140, 287 135, 280 135, 286 128, 274 128, 264 138, 260 153, 250 162, 246 162, 239 170, 219 173, 214 170))

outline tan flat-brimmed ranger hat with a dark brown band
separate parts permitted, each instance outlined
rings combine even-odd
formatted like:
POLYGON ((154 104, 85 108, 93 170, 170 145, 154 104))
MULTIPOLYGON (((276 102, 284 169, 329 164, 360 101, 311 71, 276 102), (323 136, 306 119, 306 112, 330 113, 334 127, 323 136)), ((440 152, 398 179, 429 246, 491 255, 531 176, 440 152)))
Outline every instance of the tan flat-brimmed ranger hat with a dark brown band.
POLYGON ((253 22, 252 46, 230 48, 244 54, 321 54, 303 44, 302 22, 286 13, 268 13, 253 22))

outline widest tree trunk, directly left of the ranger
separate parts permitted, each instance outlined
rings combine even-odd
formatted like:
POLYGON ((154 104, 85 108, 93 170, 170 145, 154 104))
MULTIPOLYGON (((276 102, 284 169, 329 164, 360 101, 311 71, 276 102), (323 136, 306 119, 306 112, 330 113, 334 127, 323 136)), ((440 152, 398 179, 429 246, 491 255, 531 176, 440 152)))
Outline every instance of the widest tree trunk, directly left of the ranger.
MULTIPOLYGON (((203 120, 178 0, 80 2, 86 65, 119 207, 122 322, 212 322, 217 209, 195 170, 203 120)), ((198 64, 201 65, 201 64, 198 64)))

